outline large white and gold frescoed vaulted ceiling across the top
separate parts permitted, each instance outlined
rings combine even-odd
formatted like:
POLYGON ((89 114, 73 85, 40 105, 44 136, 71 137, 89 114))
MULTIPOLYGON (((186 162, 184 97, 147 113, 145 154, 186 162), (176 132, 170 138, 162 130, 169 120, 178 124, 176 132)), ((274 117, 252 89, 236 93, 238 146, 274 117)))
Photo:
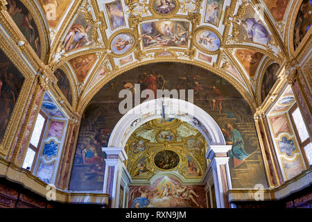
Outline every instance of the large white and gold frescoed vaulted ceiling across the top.
MULTIPOLYGON (((12 5, 8 1, 8 5, 12 5)), ((273 62, 291 58, 297 0, 30 0, 40 58, 69 78, 80 114, 103 85, 150 62, 198 65, 222 76, 252 110, 273 62)), ((279 69, 281 71, 281 69, 279 69)))

